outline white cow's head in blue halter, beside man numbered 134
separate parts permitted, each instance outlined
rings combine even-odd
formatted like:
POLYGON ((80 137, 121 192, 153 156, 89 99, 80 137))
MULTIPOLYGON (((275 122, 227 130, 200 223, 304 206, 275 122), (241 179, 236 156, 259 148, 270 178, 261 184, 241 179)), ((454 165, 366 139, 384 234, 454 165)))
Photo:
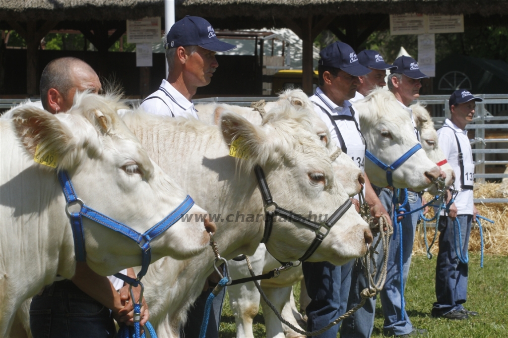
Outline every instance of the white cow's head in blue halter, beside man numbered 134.
MULTIPOLYGON (((367 149, 380 161, 391 165, 418 144, 411 116, 395 96, 386 90, 373 90, 365 99, 355 103, 367 149)), ((370 160, 365 160, 370 181, 379 187, 388 185, 386 172, 370 160)), ((423 149, 418 150, 393 172, 396 188, 420 191, 439 177, 439 168, 423 149)))

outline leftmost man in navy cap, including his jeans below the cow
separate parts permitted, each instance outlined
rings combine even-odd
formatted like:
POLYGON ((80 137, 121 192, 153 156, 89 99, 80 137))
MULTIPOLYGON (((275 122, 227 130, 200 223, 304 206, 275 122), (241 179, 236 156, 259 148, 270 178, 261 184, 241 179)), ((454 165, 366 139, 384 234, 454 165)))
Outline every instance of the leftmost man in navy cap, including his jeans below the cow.
MULTIPOLYGON (((168 61, 168 79, 162 80, 159 89, 146 97, 140 107, 152 114, 199 119, 192 97, 198 87, 210 83, 218 67, 215 53, 227 52, 236 46, 217 39, 215 30, 205 19, 187 15, 171 26, 164 48, 168 61)), ((218 282, 219 279, 215 273, 209 277, 213 282, 218 282)), ((206 300, 210 294, 207 285, 187 313, 188 320, 182 328, 182 336, 197 337, 200 334, 206 300)), ((218 337, 225 292, 226 288, 214 298, 206 330, 207 338, 218 337)))

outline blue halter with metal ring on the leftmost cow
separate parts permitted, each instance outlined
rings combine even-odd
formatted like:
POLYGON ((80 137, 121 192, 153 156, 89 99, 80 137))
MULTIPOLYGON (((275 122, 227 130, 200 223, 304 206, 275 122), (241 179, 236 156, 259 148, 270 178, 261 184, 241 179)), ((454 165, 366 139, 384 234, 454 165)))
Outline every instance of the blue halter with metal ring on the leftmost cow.
POLYGON ((85 261, 86 251, 85 251, 85 238, 83 234, 83 223, 82 216, 86 217, 94 222, 102 224, 116 232, 127 236, 128 238, 135 241, 141 248, 142 254, 142 263, 141 263, 141 271, 138 273, 138 277, 133 279, 129 276, 125 276, 123 274, 115 274, 114 276, 120 278, 121 280, 138 286, 141 278, 146 274, 148 269, 148 265, 151 260, 151 252, 150 252, 150 241, 153 240, 156 236, 160 235, 167 229, 169 229, 173 224, 175 224, 184 214, 186 214, 190 208, 194 205, 194 200, 187 195, 187 197, 183 200, 183 202, 173 210, 168 216, 166 216, 162 221, 158 222, 150 229, 148 229, 145 233, 139 233, 136 230, 130 228, 129 226, 122 224, 114 219, 109 218, 108 216, 101 214, 98 211, 95 211, 89 207, 87 207, 84 202, 76 196, 74 192, 74 187, 71 183, 71 179, 69 178, 66 171, 58 172, 58 180, 63 189, 63 194, 67 200, 66 205, 66 213, 71 219, 72 233, 74 237, 74 251, 76 254, 77 261, 85 261), (81 209, 78 213, 69 212, 69 205, 77 203, 81 206, 81 209))

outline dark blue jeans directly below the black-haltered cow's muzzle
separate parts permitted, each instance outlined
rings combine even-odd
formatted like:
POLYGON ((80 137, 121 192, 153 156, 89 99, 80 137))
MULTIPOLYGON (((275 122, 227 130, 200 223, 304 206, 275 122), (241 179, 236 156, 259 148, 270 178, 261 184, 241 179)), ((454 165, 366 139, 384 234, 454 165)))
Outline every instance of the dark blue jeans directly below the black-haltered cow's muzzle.
MULTIPOLYGON (((347 310, 347 296, 351 285, 351 272, 355 260, 336 266, 330 262, 303 262, 303 278, 311 301, 305 312, 307 330, 320 330, 347 310)), ((316 337, 337 337, 340 324, 316 337)))

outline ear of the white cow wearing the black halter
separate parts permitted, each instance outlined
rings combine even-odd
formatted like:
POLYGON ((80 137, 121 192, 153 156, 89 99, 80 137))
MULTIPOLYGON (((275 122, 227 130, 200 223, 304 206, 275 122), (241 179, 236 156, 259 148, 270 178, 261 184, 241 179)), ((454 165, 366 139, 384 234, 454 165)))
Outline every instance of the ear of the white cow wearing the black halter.
POLYGON ((264 140, 266 140, 265 132, 239 114, 222 113, 218 125, 228 145, 239 138, 242 139, 242 149, 249 154, 254 162, 257 162, 256 159, 265 153, 263 150, 264 140))

